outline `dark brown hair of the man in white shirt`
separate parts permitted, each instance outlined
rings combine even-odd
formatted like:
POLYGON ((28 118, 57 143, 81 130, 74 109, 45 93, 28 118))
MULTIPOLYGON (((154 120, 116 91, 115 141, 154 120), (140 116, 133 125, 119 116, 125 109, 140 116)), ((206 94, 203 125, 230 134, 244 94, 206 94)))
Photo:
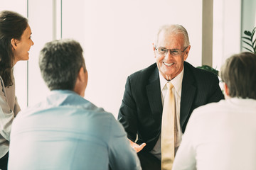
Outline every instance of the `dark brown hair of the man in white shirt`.
POLYGON ((228 86, 228 96, 256 99, 256 55, 241 52, 225 61, 220 77, 228 86))

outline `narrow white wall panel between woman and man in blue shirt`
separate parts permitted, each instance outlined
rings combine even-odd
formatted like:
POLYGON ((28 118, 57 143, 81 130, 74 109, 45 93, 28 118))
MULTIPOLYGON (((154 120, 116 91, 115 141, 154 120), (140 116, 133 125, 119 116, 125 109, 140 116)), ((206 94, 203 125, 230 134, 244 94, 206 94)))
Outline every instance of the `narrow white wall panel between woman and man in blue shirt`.
POLYGON ((53 40, 53 2, 28 1, 28 20, 33 33, 32 40, 35 43, 31 47, 28 61, 28 106, 33 106, 49 92, 41 78, 38 57, 43 45, 53 40))

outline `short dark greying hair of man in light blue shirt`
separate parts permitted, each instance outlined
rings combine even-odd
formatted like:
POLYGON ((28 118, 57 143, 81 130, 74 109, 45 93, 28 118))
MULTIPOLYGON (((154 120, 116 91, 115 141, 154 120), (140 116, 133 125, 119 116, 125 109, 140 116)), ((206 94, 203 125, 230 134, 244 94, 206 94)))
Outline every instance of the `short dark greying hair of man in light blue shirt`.
POLYGON ((85 72, 82 47, 75 40, 53 40, 40 52, 41 75, 50 90, 73 90, 80 68, 85 72))

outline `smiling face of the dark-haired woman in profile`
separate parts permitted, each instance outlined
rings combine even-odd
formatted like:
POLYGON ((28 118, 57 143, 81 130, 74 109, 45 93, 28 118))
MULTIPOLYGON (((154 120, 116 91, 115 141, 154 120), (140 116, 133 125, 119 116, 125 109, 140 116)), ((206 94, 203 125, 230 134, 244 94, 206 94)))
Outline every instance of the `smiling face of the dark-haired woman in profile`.
POLYGON ((31 40, 31 28, 27 26, 21 35, 21 40, 12 40, 12 45, 14 47, 14 64, 20 60, 28 60, 28 51, 33 45, 33 40, 31 40))

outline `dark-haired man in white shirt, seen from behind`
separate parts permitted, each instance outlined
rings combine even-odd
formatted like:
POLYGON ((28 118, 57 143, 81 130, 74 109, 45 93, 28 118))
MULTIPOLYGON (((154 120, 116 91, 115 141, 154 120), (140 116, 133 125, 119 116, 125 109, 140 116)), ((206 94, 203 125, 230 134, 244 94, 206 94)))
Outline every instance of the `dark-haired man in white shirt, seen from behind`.
POLYGON ((220 69, 225 100, 193 111, 173 170, 256 169, 256 55, 242 52, 220 69))

